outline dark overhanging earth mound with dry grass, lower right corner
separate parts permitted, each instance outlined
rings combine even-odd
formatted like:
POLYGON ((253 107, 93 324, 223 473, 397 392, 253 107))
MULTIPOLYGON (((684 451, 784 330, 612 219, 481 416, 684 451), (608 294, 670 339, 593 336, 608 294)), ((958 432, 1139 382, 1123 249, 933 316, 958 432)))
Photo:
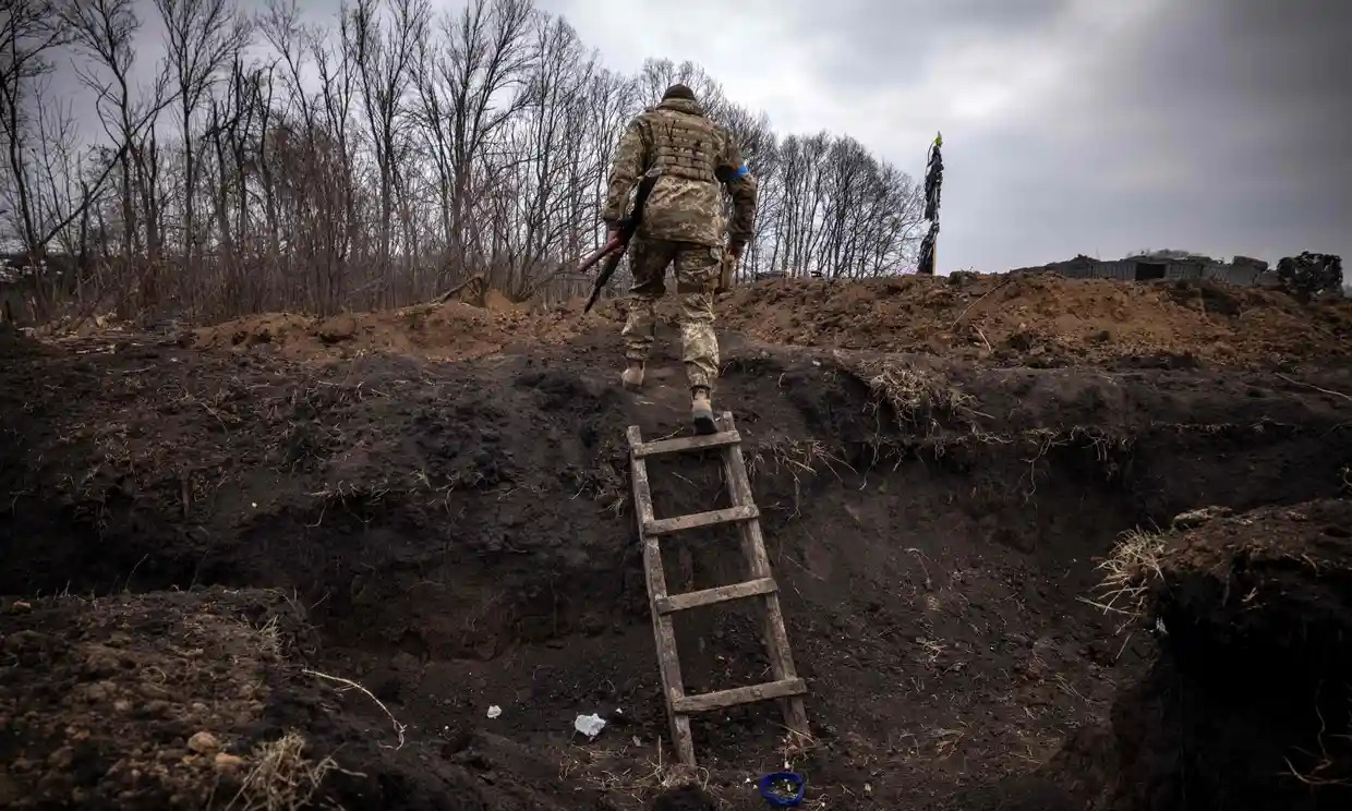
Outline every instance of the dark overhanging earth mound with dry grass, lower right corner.
POLYGON ((1352 803, 1352 501, 1226 512, 1138 556, 1160 652, 1113 711, 1103 808, 1352 803))

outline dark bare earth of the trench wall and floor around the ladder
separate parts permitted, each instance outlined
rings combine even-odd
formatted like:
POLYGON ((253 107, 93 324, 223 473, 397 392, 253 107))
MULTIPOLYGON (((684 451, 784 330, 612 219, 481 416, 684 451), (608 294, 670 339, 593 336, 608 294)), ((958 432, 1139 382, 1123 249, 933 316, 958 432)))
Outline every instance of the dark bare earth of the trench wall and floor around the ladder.
MULTIPOLYGON (((3 349, 0 593, 28 607, 0 615, 22 660, 0 670, 0 789, 226 807, 215 761, 122 775, 181 761, 201 730, 246 775, 287 729, 362 775, 316 795, 349 808, 635 808, 671 785, 623 446, 629 424, 687 430, 669 347, 630 396, 610 334, 458 364, 108 346, 3 349), (299 641, 276 654, 258 645, 273 616, 299 641), (114 633, 131 666, 96 669, 87 647, 114 633), (222 669, 195 670, 199 647, 222 669), (143 727, 104 704, 18 726, 64 718, 77 683, 173 700, 143 727), (377 700, 407 727, 397 750, 377 700), (588 742, 572 722, 592 712, 608 726, 588 742)), ((745 438, 815 737, 786 752, 773 706, 698 719, 699 780, 729 808, 761 807, 754 779, 786 760, 826 807, 1072 802, 1038 768, 1153 652, 1082 599, 1095 558, 1198 506, 1334 497, 1352 461, 1347 401, 1310 388, 1349 391, 1348 372, 988 369, 735 335, 723 360, 715 404, 745 438)), ((711 461, 653 465, 660 516, 718 504, 711 461)), ((734 550, 672 543, 668 581, 741 580, 734 550)), ((688 689, 767 679, 749 611, 692 614, 688 689)))

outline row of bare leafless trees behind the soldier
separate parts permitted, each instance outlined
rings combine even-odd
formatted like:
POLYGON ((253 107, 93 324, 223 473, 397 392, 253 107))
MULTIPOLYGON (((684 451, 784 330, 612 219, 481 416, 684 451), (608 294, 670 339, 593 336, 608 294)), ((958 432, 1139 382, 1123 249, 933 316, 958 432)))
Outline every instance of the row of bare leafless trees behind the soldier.
POLYGON ((7 0, 0 51, 0 228, 38 318, 395 307, 476 273, 577 295, 619 134, 675 81, 760 178, 744 276, 896 273, 918 243, 921 189, 857 141, 776 134, 690 62, 617 73, 531 0, 349 0, 322 23, 296 0, 7 0))

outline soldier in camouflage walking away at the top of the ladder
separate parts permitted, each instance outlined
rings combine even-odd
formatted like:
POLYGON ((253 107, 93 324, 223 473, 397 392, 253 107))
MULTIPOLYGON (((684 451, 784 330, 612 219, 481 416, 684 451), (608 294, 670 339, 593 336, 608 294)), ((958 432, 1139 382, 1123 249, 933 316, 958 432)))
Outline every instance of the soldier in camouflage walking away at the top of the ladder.
POLYGON ((661 103, 634 116, 619 141, 602 211, 611 235, 630 189, 653 166, 660 166, 662 176, 648 197, 629 253, 634 285, 621 333, 626 361, 621 381, 629 391, 644 385, 644 364, 657 331, 654 308, 667 292, 667 266, 675 264, 691 418, 698 433, 711 434, 717 427, 710 396, 718 377, 714 292, 725 260, 735 262, 752 237, 756 178, 742 164, 731 134, 704 114, 694 91, 683 84, 667 88, 661 103), (733 218, 726 226, 719 184, 733 197, 733 218))

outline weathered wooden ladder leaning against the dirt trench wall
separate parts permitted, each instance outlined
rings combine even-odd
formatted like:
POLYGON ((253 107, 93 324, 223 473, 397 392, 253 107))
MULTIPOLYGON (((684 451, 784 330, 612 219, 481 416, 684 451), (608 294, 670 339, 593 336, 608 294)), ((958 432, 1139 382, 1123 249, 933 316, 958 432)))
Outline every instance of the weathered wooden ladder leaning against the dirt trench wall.
POLYGON ((667 696, 667 714, 671 718, 672 739, 676 756, 685 765, 695 765, 695 742, 690 734, 690 716, 777 699, 784 712, 784 726, 790 730, 808 734, 807 711, 803 708, 803 695, 807 683, 798 677, 794 669, 794 654, 788 647, 788 634, 784 631, 784 615, 779 607, 779 585, 769 570, 769 557, 765 554, 765 541, 761 537, 760 510, 752 499, 752 485, 746 477, 746 462, 742 458, 741 435, 733 424, 731 412, 718 415, 718 433, 702 437, 683 437, 644 442, 638 426, 629 427, 630 480, 634 487, 634 507, 638 519, 638 539, 644 545, 644 570, 648 576, 648 600, 653 612, 653 635, 657 639, 657 662, 662 676, 662 693, 667 696), (653 516, 653 495, 648 485, 648 457, 662 453, 681 453, 721 447, 723 474, 727 480, 731 507, 711 510, 694 515, 657 519, 653 516), (695 530, 722 523, 735 523, 741 534, 742 554, 750 569, 750 580, 731 585, 718 585, 684 595, 667 593, 667 576, 662 572, 662 554, 657 541, 669 533, 695 530), (711 606, 729 600, 758 597, 763 600, 763 630, 765 647, 769 649, 771 673, 775 680, 733 689, 687 696, 681 684, 680 660, 676 654, 676 631, 672 615, 677 611, 711 606))

